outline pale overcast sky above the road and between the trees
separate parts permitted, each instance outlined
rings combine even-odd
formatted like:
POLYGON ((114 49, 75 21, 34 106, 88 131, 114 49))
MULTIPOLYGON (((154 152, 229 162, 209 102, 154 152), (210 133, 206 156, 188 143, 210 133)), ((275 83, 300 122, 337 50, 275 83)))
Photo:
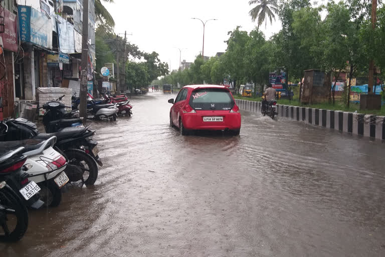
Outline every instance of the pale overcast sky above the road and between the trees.
MULTIPOLYGON (((203 25, 199 20, 218 19, 206 24, 205 56, 215 56, 217 52, 226 51, 227 33, 242 26, 250 32, 256 27, 251 21, 248 0, 114 0, 114 4, 104 3, 115 20, 116 33, 132 33, 128 41, 136 44, 145 52, 155 51, 159 58, 168 64, 171 70, 179 66, 181 59, 193 62, 202 52, 203 25), (182 49, 184 48, 184 49, 182 49)), ((269 38, 280 30, 276 17, 271 26, 269 22, 262 31, 269 38)))

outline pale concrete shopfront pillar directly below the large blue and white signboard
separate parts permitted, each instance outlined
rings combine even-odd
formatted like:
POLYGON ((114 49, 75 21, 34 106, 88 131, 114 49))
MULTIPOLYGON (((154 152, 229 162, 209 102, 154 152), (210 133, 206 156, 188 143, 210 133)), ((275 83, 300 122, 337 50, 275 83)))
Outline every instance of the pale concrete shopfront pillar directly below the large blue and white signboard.
POLYGON ((26 100, 35 100, 35 56, 32 47, 25 48, 24 56, 24 96, 26 100))

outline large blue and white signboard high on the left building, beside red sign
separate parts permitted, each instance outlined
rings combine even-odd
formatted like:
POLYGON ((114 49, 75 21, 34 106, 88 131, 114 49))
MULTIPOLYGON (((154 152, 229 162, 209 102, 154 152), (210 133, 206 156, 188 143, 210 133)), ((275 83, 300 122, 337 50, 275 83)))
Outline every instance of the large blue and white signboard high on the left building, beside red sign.
POLYGON ((24 42, 52 48, 52 22, 30 6, 19 6, 20 38, 24 42))

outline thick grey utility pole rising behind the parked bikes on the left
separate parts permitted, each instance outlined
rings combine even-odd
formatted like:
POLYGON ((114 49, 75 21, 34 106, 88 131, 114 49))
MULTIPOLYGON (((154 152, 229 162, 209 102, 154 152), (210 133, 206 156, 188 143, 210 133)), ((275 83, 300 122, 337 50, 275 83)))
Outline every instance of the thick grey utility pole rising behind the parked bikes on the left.
POLYGON ((83 24, 82 24, 82 71, 80 81, 80 117, 87 122, 87 70, 88 70, 88 0, 83 1, 83 24))

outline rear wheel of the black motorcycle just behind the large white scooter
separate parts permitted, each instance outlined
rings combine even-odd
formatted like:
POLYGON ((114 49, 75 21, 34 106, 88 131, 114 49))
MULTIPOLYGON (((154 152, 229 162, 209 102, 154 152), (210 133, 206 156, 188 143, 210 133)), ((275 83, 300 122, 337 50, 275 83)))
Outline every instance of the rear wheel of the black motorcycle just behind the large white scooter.
POLYGON ((65 155, 69 160, 68 164, 78 166, 83 171, 82 182, 84 184, 95 184, 98 178, 98 166, 89 154, 80 150, 70 149, 65 152, 65 155))

